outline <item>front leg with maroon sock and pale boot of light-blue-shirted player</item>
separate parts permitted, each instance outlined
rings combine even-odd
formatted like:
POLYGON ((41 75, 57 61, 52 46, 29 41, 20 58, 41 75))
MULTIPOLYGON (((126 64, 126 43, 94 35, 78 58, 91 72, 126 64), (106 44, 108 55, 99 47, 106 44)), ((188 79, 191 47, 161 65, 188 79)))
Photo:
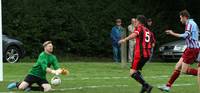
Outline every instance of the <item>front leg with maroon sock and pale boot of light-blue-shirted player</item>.
POLYGON ((181 57, 179 59, 179 61, 176 63, 175 69, 174 69, 172 75, 170 76, 167 84, 164 85, 164 86, 159 86, 158 87, 160 90, 166 91, 166 92, 170 91, 170 88, 172 87, 173 83, 180 76, 180 72, 181 72, 180 70, 181 70, 181 67, 182 67, 182 63, 183 63, 183 58, 181 57))

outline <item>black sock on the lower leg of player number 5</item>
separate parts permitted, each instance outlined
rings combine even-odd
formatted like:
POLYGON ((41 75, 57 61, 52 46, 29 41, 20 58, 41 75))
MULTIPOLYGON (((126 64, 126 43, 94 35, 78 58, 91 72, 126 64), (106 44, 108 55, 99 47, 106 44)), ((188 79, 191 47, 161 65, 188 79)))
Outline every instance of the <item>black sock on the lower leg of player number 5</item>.
POLYGON ((142 84, 142 86, 146 86, 146 82, 145 80, 142 78, 142 75, 139 71, 137 71, 136 73, 133 73, 131 75, 132 78, 134 78, 136 81, 138 81, 140 84, 142 84))

